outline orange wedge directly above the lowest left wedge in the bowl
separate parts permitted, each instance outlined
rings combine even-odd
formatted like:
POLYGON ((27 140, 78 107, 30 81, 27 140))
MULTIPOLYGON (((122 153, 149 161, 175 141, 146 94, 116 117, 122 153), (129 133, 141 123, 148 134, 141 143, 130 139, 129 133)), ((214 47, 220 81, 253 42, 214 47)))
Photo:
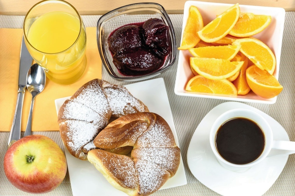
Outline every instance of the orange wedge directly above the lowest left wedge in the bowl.
POLYGON ((201 76, 212 80, 231 77, 241 69, 243 63, 226 59, 190 57, 191 67, 201 76))

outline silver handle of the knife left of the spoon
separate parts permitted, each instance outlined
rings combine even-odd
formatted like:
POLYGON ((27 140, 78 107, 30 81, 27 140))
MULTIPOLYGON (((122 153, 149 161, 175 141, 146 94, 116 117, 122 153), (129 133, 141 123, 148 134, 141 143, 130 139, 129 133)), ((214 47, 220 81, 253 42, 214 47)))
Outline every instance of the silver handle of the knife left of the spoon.
POLYGON ((26 90, 25 85, 19 85, 17 92, 17 106, 15 108, 14 118, 12 122, 12 127, 10 130, 8 148, 17 140, 20 139, 20 127, 22 121, 22 105, 24 103, 24 92, 26 90))

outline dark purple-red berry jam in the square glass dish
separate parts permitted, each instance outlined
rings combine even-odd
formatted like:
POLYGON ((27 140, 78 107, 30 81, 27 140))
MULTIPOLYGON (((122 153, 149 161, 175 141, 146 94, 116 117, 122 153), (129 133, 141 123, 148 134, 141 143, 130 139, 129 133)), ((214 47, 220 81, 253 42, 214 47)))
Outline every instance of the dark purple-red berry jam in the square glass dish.
POLYGON ((171 52, 169 27, 156 18, 119 27, 110 34, 108 44, 115 66, 126 76, 155 72, 171 52))

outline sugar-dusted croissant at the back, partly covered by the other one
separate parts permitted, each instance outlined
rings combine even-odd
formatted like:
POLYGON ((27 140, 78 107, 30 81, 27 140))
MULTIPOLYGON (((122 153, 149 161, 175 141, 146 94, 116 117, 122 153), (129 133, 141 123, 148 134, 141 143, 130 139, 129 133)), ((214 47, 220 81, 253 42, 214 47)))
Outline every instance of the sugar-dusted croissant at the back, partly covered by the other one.
MULTIPOLYGON (((148 112, 148 108, 125 87, 100 79, 91 80, 60 107, 61 139, 73 156, 87 160, 88 151, 96 148, 93 139, 109 119, 135 112, 148 112)), ((123 153, 126 149, 128 147, 109 150, 123 153)))

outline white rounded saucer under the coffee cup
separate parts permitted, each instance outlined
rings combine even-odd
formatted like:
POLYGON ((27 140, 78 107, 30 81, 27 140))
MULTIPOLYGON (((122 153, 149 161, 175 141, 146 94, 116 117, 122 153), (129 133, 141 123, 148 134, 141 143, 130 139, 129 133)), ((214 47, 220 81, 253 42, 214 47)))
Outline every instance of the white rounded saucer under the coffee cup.
POLYGON ((264 112, 240 102, 225 102, 208 112, 194 132, 187 150, 189 169, 196 179, 220 195, 263 195, 281 174, 288 155, 268 157, 245 172, 234 172, 222 167, 210 148, 209 133, 214 120, 235 108, 258 112, 270 123, 273 139, 290 141, 285 129, 264 112))

